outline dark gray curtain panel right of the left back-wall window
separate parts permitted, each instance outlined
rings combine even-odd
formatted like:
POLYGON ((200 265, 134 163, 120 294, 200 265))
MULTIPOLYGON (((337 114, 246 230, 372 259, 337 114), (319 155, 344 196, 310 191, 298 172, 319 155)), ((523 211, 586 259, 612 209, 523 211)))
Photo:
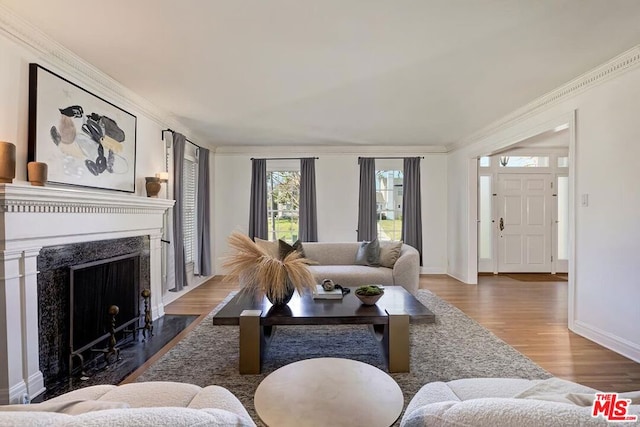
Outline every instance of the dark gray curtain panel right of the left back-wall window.
POLYGON ((316 204, 316 159, 300 159, 300 235, 301 242, 318 241, 316 204))

